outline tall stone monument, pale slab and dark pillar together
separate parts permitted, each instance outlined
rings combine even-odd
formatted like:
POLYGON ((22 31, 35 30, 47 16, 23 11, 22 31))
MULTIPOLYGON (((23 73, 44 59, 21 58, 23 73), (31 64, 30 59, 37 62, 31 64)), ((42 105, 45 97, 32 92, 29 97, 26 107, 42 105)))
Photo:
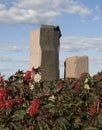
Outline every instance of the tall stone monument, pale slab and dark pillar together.
POLYGON ((42 79, 59 79, 59 26, 42 25, 30 34, 30 69, 41 67, 42 79))

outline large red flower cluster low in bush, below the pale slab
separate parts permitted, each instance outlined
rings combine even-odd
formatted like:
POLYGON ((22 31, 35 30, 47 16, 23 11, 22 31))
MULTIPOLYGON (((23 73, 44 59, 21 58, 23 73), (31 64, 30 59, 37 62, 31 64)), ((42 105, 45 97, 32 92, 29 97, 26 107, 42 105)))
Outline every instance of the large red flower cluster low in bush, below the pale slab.
POLYGON ((40 112, 40 102, 40 99, 33 100, 29 111, 30 116, 36 115, 40 112))

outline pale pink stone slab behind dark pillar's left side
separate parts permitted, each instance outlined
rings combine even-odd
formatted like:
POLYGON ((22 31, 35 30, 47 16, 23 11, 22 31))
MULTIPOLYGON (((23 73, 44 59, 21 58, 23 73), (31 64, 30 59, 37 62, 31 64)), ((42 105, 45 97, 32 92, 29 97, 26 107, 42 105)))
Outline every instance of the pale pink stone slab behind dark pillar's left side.
POLYGON ((41 65, 40 31, 30 33, 30 70, 41 65))

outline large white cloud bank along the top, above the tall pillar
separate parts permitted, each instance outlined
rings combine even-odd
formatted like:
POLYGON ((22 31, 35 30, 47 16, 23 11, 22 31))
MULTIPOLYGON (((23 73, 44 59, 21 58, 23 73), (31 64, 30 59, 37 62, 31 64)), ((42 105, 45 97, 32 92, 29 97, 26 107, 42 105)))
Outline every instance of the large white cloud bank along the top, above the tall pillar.
POLYGON ((87 16, 91 10, 73 0, 17 0, 0 4, 0 24, 49 24, 62 12, 87 16))

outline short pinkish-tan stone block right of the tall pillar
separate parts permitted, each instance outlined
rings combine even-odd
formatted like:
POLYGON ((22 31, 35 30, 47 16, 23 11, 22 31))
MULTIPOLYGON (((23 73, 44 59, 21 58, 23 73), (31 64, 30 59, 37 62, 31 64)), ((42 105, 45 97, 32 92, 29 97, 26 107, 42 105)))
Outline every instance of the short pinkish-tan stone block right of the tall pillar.
POLYGON ((65 61, 65 78, 79 78, 81 73, 88 73, 88 57, 73 56, 65 61))

